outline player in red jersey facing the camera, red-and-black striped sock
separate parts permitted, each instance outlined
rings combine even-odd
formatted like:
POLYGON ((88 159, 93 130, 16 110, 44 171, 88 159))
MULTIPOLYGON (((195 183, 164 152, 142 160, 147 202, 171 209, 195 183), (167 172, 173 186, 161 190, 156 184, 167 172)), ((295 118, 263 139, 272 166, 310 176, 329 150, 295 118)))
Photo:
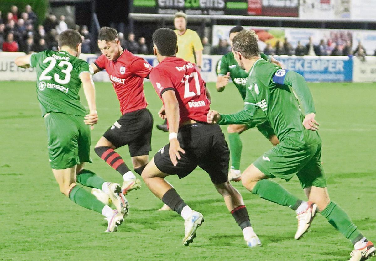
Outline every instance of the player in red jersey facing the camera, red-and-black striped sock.
POLYGON ((108 73, 120 102, 122 115, 103 134, 94 150, 121 174, 124 180, 121 188, 126 194, 132 189, 138 189, 141 182, 114 150, 128 145, 133 168, 140 175, 149 162, 153 116, 146 108, 144 78, 149 76, 152 66, 143 58, 123 49, 114 28, 100 29, 98 47, 102 55, 91 66, 94 73, 103 69, 108 73))

